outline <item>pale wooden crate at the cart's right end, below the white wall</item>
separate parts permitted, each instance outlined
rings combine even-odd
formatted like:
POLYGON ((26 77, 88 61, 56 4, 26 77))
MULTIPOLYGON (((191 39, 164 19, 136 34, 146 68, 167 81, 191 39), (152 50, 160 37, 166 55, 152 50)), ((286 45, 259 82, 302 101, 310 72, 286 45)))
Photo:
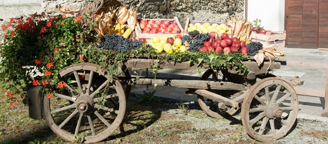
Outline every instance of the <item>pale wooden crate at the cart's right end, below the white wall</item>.
POLYGON ((263 41, 286 40, 286 31, 266 32, 265 34, 258 34, 252 32, 251 38, 263 41))

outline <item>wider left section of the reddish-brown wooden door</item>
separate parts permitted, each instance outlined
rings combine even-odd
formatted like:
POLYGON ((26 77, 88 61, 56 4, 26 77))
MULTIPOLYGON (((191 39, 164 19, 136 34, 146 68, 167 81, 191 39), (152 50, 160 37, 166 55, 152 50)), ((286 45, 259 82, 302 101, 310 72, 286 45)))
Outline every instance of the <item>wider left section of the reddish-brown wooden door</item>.
POLYGON ((318 48, 319 0, 285 2, 286 46, 318 48))

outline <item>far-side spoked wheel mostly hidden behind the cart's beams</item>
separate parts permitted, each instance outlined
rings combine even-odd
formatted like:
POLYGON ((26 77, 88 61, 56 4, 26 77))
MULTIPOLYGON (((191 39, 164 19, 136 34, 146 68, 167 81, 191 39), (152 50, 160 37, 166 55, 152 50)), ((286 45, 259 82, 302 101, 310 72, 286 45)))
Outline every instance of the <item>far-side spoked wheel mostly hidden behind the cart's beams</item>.
MULTIPOLYGON (((218 81, 218 79, 217 79, 218 73, 212 69, 207 69, 200 79, 207 80, 210 76, 211 76, 211 81, 218 81)), ((219 103, 217 103, 213 100, 204 98, 201 95, 197 95, 197 100, 198 100, 198 103, 199 103, 199 106, 201 107, 201 109, 207 115, 209 115, 213 118, 221 118, 222 117, 221 114, 223 114, 227 111, 227 109, 225 109, 225 110, 220 109, 218 106, 219 103)), ((230 107, 228 108, 228 110, 230 111, 230 114, 237 112, 238 109, 239 108, 230 108, 230 107)))

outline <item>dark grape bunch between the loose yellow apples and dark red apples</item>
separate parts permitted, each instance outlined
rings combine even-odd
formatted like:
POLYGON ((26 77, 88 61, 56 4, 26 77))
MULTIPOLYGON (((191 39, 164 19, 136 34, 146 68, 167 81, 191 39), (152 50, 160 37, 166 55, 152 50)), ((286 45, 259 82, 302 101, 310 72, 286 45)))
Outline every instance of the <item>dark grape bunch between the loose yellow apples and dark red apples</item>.
POLYGON ((199 34, 197 30, 188 32, 188 35, 193 39, 190 43, 189 51, 199 51, 199 48, 204 45, 204 42, 208 41, 210 38, 208 33, 199 34))

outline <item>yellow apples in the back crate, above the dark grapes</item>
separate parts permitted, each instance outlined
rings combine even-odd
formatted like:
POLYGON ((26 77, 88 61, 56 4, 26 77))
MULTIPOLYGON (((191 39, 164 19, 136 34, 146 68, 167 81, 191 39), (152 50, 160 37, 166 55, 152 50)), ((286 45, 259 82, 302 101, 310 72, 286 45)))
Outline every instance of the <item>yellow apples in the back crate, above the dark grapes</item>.
POLYGON ((222 24, 218 24, 218 23, 210 24, 208 22, 205 22, 203 24, 199 22, 196 22, 194 24, 189 23, 187 31, 192 32, 194 30, 199 31, 200 33, 216 32, 218 34, 222 34, 228 31, 228 26, 224 23, 222 24))

